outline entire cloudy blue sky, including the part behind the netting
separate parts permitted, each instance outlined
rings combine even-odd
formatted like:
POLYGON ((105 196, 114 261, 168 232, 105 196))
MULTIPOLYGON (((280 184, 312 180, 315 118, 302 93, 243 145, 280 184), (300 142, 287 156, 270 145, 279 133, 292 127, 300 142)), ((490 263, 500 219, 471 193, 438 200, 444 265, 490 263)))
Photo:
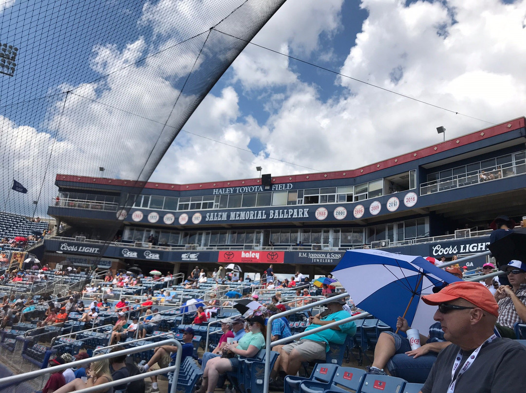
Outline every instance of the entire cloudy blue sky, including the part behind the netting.
MULTIPOLYGON (((195 98, 179 96, 188 74, 230 55, 205 43, 241 4, 0 0, 0 42, 21 47, 0 78, 6 210, 45 211, 56 173, 139 178, 180 125, 174 97, 195 98), (28 194, 7 195, 13 179, 28 194)), ((525 32, 526 0, 287 0, 150 180, 353 169, 441 141, 438 126, 454 138, 523 116, 525 32)))

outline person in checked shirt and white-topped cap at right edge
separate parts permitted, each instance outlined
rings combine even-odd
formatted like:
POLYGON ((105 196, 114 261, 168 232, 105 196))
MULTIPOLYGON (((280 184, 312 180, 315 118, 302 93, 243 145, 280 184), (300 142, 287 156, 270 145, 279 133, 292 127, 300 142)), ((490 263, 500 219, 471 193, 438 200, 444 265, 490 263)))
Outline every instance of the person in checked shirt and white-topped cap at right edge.
POLYGON ((512 260, 500 270, 506 272, 512 287, 501 285, 494 295, 499 304, 497 323, 513 329, 515 323, 526 322, 526 263, 512 260))

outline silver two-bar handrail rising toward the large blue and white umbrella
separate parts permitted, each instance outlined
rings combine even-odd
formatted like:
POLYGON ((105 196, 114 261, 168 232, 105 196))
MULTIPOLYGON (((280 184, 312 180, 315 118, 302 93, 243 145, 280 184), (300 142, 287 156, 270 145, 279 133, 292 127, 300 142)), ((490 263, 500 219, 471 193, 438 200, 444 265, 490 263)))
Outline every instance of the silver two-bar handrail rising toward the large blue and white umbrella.
MULTIPOLYGON (((274 319, 281 318, 281 317, 284 317, 284 316, 287 316, 287 315, 291 315, 291 314, 295 314, 298 311, 305 311, 305 310, 307 310, 309 308, 312 308, 312 306, 318 306, 318 305, 322 305, 322 304, 331 303, 331 302, 334 302, 335 300, 346 298, 347 296, 350 296, 350 295, 347 292, 345 292, 345 293, 343 293, 341 295, 328 297, 328 298, 325 298, 325 299, 320 300, 320 301, 315 302, 315 303, 311 303, 311 304, 306 305, 306 306, 297 307, 297 308, 294 308, 294 309, 290 309, 290 310, 284 311, 284 312, 279 313, 279 314, 271 315, 268 318, 267 326, 272 326, 272 322, 274 321, 274 319)), ((266 345, 266 348, 265 348, 265 378, 264 378, 264 383, 263 383, 263 393, 268 393, 268 387, 269 387, 269 381, 270 381, 270 351, 272 350, 272 347, 274 347, 276 345, 284 344, 286 342, 290 342, 290 341, 292 341, 292 340, 294 340, 296 338, 304 337, 304 336, 307 336, 307 335, 312 334, 312 333, 321 332, 321 330, 330 329, 330 328, 332 328, 334 326, 339 326, 341 324, 345 324, 347 322, 350 322, 351 320, 360 319, 360 318, 366 317, 368 315, 370 315, 370 314, 369 313, 361 313, 361 314, 358 314, 358 315, 355 315, 355 316, 351 316, 351 317, 346 318, 346 319, 337 320, 337 321, 332 322, 332 323, 327 324, 327 325, 323 325, 323 326, 320 326, 320 327, 317 327, 317 328, 314 328, 314 329, 310 329, 307 332, 304 331, 304 332, 297 333, 297 334, 295 334, 293 336, 290 336, 290 337, 287 337, 287 338, 282 338, 282 339, 276 340, 275 342, 271 341, 271 339, 272 339, 272 329, 267 329, 267 337, 265 338, 265 342, 267 343, 267 345, 266 345)))

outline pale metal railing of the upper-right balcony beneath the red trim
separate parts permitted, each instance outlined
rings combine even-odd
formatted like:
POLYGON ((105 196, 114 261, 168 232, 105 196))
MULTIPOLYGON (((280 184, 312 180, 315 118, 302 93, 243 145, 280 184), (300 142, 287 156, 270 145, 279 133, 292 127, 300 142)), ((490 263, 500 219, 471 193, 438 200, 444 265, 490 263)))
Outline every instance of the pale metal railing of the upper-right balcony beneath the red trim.
POLYGON ((526 173, 526 164, 509 162, 492 170, 478 170, 422 183, 420 184, 420 195, 468 187, 469 185, 509 178, 523 173, 526 173))

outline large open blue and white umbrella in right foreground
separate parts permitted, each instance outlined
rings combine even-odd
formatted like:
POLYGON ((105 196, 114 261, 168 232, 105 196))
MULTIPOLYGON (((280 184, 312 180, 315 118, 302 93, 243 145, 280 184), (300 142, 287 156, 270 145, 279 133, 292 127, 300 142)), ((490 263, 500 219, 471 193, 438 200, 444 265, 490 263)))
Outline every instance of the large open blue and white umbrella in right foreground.
POLYGON ((396 329, 403 316, 423 335, 433 324, 437 307, 422 302, 420 295, 433 293, 444 282, 461 281, 430 264, 421 256, 380 250, 348 250, 332 275, 351 294, 356 306, 396 329))

